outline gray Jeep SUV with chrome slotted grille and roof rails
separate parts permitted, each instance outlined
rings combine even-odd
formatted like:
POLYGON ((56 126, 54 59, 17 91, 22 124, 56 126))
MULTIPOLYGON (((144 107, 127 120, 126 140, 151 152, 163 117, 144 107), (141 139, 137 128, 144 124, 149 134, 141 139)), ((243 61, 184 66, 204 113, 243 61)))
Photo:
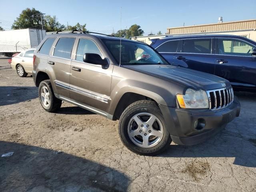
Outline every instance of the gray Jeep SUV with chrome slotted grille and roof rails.
POLYGON ((82 32, 46 36, 33 78, 48 112, 62 100, 119 120, 124 145, 154 155, 207 140, 239 116, 227 80, 170 65, 150 46, 82 32))

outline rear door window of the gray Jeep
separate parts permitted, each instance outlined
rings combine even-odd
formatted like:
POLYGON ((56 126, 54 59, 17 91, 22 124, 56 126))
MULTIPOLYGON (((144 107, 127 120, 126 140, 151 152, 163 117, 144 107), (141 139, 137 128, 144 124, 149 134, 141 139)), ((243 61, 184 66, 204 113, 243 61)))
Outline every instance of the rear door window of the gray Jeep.
POLYGON ((55 46, 53 56, 70 59, 75 38, 60 38, 55 46))

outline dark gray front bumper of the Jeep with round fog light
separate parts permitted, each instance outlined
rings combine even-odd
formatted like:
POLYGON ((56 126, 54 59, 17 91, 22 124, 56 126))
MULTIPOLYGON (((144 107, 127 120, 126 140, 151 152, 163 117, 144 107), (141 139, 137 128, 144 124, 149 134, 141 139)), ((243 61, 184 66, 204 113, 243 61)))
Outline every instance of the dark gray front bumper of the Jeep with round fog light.
POLYGON ((220 110, 159 107, 173 142, 180 145, 194 145, 211 138, 240 114, 236 97, 232 104, 220 110), (199 126, 195 128, 196 120, 199 126))

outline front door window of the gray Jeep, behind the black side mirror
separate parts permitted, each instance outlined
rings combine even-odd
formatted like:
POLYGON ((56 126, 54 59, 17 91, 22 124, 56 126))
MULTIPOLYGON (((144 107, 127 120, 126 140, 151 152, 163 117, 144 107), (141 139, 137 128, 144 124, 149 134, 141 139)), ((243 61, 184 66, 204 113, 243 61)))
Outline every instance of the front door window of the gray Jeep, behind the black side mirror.
POLYGON ((83 61, 83 57, 85 53, 96 53, 102 57, 102 54, 99 48, 92 40, 88 39, 80 39, 76 51, 76 60, 83 61))

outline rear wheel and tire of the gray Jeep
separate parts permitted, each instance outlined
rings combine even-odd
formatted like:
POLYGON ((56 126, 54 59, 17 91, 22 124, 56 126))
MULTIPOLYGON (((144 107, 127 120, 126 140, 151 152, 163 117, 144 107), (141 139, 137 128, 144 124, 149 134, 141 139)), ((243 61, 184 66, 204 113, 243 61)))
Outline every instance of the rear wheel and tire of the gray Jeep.
POLYGON ((47 112, 55 112, 61 107, 62 100, 54 96, 50 80, 40 82, 38 96, 42 107, 47 112))

